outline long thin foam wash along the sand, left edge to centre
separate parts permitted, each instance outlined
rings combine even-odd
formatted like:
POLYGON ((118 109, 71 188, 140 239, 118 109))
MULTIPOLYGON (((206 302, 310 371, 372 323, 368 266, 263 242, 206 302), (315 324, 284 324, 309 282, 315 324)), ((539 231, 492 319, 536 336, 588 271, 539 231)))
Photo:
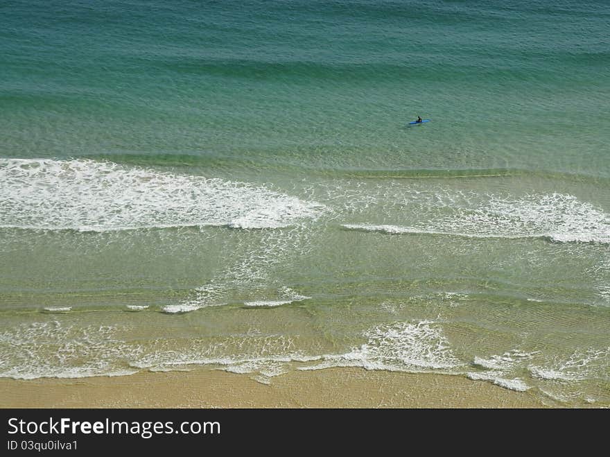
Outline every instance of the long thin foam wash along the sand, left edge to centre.
POLYGON ((0 333, 0 377, 37 379, 124 376, 141 369, 188 370, 211 365, 230 372, 255 374, 256 381, 290 369, 292 363, 309 363, 318 356, 303 354, 295 340, 256 331, 219 340, 159 338, 129 343, 127 327, 65 325, 35 322, 0 333))

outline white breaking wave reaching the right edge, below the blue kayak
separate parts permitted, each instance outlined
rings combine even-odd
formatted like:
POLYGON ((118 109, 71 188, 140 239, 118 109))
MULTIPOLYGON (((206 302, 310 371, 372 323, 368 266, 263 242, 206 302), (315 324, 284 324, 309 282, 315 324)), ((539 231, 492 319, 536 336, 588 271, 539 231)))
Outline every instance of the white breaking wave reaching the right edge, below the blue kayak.
MULTIPOLYGON (((472 206, 447 208, 415 225, 343 224, 348 230, 386 234, 442 234, 472 238, 548 238, 558 242, 610 243, 610 215, 574 196, 525 196, 519 200, 487 196, 472 206)), ((462 202, 464 203, 464 202, 462 202)), ((430 202, 434 205, 434 202, 430 202)))

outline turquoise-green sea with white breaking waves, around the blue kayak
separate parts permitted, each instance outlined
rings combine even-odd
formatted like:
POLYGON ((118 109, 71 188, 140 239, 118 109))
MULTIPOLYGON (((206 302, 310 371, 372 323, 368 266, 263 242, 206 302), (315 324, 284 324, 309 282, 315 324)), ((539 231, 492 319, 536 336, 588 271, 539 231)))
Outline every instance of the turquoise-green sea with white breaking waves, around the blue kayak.
POLYGON ((0 377, 360 366, 610 406, 607 1, 0 17, 0 377))

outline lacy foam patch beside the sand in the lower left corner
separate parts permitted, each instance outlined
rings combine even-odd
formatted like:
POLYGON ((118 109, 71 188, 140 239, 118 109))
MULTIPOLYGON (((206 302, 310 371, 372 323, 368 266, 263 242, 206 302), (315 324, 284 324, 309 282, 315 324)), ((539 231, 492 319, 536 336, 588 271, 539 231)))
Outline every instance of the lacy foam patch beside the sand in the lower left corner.
POLYGON ((0 377, 80 378, 133 374, 130 359, 141 353, 106 326, 60 322, 19 325, 0 334, 0 377))

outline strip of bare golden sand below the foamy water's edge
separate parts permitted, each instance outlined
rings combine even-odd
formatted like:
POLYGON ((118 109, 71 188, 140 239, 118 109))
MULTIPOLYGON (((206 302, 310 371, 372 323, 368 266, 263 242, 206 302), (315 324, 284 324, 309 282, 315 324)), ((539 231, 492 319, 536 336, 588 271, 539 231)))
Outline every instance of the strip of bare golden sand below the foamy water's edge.
POLYGON ((446 374, 326 368, 259 383, 196 368, 121 377, 0 379, 0 408, 548 408, 532 393, 446 374))

